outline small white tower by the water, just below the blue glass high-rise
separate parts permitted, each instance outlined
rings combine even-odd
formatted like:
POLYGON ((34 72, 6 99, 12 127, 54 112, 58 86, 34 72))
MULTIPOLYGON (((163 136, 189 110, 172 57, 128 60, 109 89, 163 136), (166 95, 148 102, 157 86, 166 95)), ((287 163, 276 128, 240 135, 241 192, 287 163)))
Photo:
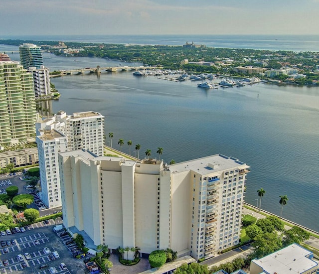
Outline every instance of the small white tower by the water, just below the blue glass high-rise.
POLYGON ((29 71, 33 74, 35 97, 51 94, 51 81, 49 69, 41 65, 39 69, 35 67, 29 67, 29 71))

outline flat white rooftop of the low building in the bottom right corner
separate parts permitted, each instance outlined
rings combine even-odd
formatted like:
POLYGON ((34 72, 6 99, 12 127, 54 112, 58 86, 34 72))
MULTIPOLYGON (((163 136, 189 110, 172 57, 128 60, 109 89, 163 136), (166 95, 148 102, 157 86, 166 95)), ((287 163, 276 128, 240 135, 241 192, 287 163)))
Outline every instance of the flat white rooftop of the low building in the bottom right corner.
POLYGON ((312 255, 311 251, 297 244, 292 244, 252 262, 267 273, 300 274, 318 265, 317 262, 307 258, 309 255, 312 255))

